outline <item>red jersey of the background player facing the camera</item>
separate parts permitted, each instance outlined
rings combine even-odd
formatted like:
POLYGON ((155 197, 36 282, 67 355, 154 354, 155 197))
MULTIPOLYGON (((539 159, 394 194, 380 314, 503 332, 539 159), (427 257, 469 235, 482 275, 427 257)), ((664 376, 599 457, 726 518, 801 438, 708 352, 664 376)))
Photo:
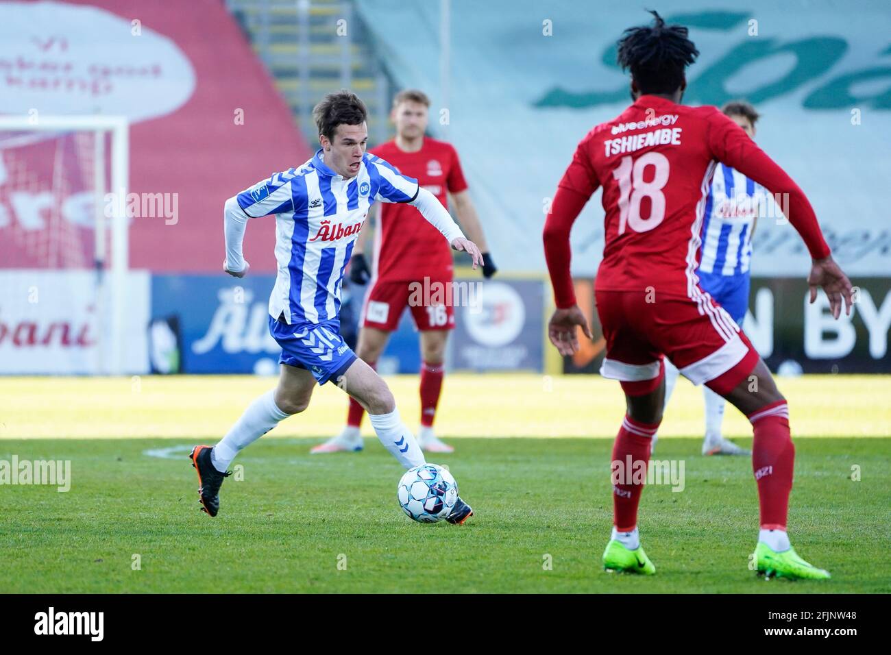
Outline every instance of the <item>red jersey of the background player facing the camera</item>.
MULTIPOLYGON (((388 141, 371 152, 403 175, 417 179, 446 209, 447 192, 457 193, 467 188, 458 153, 451 143, 424 137, 421 150, 405 152, 396 141, 388 141)), ((425 275, 432 279, 452 276, 452 250, 443 235, 421 212, 403 203, 381 203, 374 260, 379 280, 413 282, 425 275)))

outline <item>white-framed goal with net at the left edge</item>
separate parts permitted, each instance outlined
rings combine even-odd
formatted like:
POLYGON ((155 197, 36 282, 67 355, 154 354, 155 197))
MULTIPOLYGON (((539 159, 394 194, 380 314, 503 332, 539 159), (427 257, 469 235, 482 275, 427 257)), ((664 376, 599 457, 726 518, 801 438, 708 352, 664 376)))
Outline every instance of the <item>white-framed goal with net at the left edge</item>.
POLYGON ((0 373, 125 373, 127 119, 0 116, 0 373))

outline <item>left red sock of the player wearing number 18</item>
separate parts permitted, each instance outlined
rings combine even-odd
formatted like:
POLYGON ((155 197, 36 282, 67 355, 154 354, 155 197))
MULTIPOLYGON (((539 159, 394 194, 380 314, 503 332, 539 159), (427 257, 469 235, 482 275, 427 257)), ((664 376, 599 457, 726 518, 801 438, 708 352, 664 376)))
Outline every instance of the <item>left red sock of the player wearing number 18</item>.
POLYGON ((642 423, 625 416, 613 445, 613 522, 619 532, 637 527, 637 504, 647 478, 650 447, 658 423, 642 423))

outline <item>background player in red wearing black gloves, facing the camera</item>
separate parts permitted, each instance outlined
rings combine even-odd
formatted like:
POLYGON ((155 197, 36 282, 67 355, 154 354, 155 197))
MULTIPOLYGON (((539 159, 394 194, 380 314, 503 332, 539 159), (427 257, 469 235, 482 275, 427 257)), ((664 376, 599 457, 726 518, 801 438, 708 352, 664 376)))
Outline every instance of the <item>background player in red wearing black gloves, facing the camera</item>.
MULTIPOLYGON (((403 175, 417 178, 421 187, 433 193, 447 208, 448 195, 454 202, 458 224, 468 238, 477 243, 483 253, 483 275, 492 277, 497 270, 486 246, 486 237, 479 224, 477 211, 470 201, 470 192, 458 153, 450 143, 430 138, 425 133, 429 121, 430 100, 427 94, 415 89, 401 91, 393 99, 390 118, 396 126, 396 138, 372 148, 372 154, 387 160, 403 175)), ((374 234, 372 267, 364 257, 370 225, 356 242, 356 254, 350 260, 351 282, 370 283, 360 315, 356 355, 372 367, 387 347, 390 334, 409 307, 415 325, 421 333, 421 427, 418 444, 430 453, 454 451, 439 440, 433 431, 439 396, 443 386, 443 361, 448 333, 454 329, 454 307, 417 305, 410 302, 413 282, 451 284, 454 277, 452 253, 443 248, 442 235, 412 207, 386 207, 380 211, 380 226, 374 234)), ((428 288, 428 287, 422 287, 428 288)), ((349 401, 347 426, 336 437, 315 446, 310 452, 337 453, 359 451, 363 448, 359 431, 364 410, 349 401)))

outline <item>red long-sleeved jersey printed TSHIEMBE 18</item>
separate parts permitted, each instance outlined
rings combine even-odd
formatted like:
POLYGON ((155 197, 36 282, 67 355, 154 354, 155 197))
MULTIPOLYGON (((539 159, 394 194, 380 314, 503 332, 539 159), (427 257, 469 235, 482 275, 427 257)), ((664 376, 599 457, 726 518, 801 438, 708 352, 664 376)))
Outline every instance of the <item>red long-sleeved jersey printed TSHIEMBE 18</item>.
POLYGON ((560 187, 589 197, 603 187, 605 246, 599 291, 692 298, 700 230, 716 161, 783 194, 789 222, 814 258, 830 250, 804 192, 715 107, 642 95, 578 144, 560 187))

